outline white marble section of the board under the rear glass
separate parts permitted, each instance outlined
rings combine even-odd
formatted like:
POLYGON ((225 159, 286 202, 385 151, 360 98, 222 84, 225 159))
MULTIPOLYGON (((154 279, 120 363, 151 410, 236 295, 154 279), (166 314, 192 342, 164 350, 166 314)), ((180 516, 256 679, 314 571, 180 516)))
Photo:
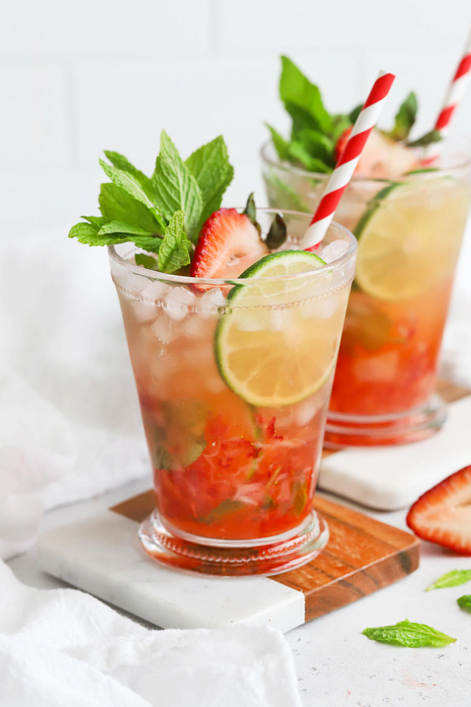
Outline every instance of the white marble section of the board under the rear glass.
POLYGON ((448 405, 443 428, 427 440, 350 448, 326 457, 318 485, 370 508, 397 510, 467 464, 471 464, 471 396, 448 405))

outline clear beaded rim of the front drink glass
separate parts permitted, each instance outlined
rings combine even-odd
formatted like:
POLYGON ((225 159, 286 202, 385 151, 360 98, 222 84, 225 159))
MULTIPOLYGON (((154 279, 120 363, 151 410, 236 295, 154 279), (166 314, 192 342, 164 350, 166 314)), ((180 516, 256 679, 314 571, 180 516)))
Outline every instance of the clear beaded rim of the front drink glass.
MULTIPOLYGON (((238 210, 239 209, 244 209, 244 206, 237 206, 236 207, 238 210)), ((263 207, 263 208, 257 208, 258 213, 263 213, 263 214, 285 214, 287 216, 301 216, 304 219, 311 219, 311 214, 306 214, 306 211, 290 211, 289 209, 273 209, 273 207, 263 207)), ((309 225, 309 224, 306 224, 309 225)), ((275 282, 275 281, 291 281, 291 280, 298 280, 301 279, 302 277, 306 276, 315 276, 315 277, 320 277, 323 274, 326 274, 327 272, 331 271, 337 271, 341 269, 345 264, 350 262, 352 259, 352 256, 357 252, 358 248, 358 243, 357 239, 354 237, 354 235, 348 230, 348 228, 345 228, 345 226, 342 226, 341 223, 337 223, 336 221, 332 221, 330 225, 328 226, 327 231, 330 228, 335 228, 335 230, 340 231, 340 233, 343 233, 347 238, 344 238, 344 240, 347 240, 350 245, 348 247, 347 252, 342 255, 342 257, 333 260, 331 263, 326 263, 326 265, 321 265, 318 268, 314 268, 312 270, 306 270, 304 272, 298 272, 294 274, 287 274, 287 275, 272 275, 270 277, 258 277, 256 279, 257 284, 258 283, 263 283, 263 282, 275 282)), ((126 243, 129 243, 129 245, 133 245, 132 241, 123 241, 123 243, 119 243, 119 245, 125 245, 126 243)), ((119 253, 116 252, 114 245, 109 245, 108 246, 108 254, 109 254, 109 259, 116 262, 120 267, 126 269, 129 272, 132 272, 136 275, 141 275, 147 279, 152 279, 152 280, 163 280, 166 282, 174 282, 178 284, 183 284, 183 285, 213 285, 213 286, 223 286, 223 285, 246 285, 250 282, 250 280, 246 278, 228 278, 228 279, 223 279, 223 278, 211 278, 211 277, 190 277, 186 275, 174 275, 174 274, 167 274, 165 272, 160 272, 157 270, 149 270, 142 265, 135 265, 129 260, 126 260, 126 258, 122 257, 119 255, 119 253)), ((255 281, 254 281, 255 283, 255 281)))

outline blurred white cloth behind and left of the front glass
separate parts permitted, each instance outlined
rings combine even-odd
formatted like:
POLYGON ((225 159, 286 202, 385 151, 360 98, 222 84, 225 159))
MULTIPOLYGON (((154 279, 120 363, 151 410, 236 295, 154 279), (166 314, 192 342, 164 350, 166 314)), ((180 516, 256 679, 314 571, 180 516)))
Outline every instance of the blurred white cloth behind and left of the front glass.
POLYGON ((149 474, 104 248, 64 232, 8 239, 0 260, 0 556, 46 508, 149 474))

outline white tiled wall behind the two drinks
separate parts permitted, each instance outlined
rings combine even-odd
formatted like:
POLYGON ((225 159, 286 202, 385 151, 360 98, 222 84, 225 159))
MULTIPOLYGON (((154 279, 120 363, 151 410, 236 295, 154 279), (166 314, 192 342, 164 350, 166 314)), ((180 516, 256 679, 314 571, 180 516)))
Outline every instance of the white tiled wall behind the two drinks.
MULTIPOLYGON (((429 129, 471 24, 467 0, 4 0, 0 4, 2 230, 64 229, 95 213, 103 148, 152 170, 165 127, 185 156, 222 133, 236 168, 226 203, 265 201, 263 120, 287 126, 285 52, 330 110, 359 103, 378 68, 410 89, 429 129)), ((471 90, 456 117, 467 129, 471 90)))

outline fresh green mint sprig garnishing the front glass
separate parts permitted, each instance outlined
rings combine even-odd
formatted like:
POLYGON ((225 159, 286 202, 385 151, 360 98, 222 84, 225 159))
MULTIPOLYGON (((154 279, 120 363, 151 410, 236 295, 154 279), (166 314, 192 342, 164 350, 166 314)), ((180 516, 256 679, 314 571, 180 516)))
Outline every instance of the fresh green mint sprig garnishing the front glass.
POLYGON ((69 238, 86 245, 131 241, 158 253, 157 267, 162 272, 188 264, 191 242, 196 242, 204 221, 219 209, 234 176, 222 136, 198 148, 184 162, 162 131, 152 177, 121 153, 105 151, 105 156, 111 164, 100 160, 100 165, 111 182, 100 188, 102 215, 83 216, 87 223, 73 226, 69 238))

